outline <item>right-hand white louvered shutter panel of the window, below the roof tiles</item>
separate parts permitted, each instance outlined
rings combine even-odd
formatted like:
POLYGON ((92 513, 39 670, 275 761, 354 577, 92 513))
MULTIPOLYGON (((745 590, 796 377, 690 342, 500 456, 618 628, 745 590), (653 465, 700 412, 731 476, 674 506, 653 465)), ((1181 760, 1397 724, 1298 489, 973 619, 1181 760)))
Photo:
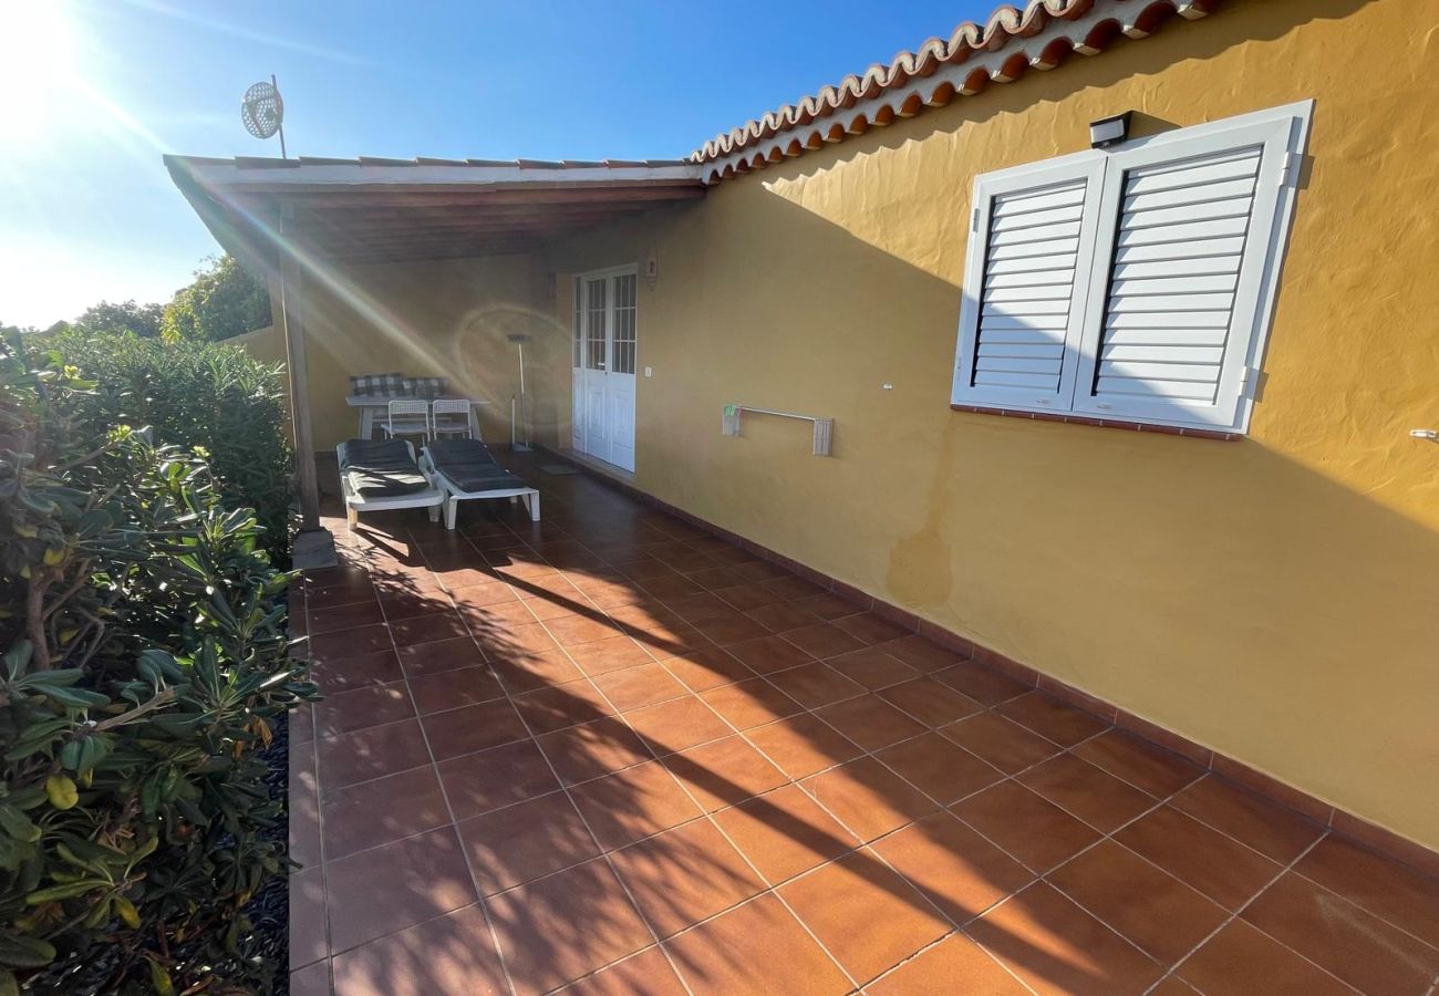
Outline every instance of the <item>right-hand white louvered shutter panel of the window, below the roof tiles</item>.
POLYGON ((1075 410, 1238 427, 1292 119, 1114 153, 1075 410))

